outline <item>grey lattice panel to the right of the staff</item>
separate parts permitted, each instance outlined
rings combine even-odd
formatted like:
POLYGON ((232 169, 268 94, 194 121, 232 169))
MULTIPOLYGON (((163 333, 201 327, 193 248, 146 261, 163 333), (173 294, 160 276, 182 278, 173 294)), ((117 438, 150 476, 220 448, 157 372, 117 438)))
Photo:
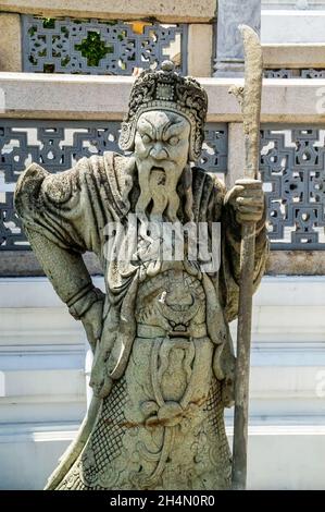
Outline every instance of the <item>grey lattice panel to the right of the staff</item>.
POLYGON ((325 130, 263 126, 261 176, 277 249, 325 249, 325 130))

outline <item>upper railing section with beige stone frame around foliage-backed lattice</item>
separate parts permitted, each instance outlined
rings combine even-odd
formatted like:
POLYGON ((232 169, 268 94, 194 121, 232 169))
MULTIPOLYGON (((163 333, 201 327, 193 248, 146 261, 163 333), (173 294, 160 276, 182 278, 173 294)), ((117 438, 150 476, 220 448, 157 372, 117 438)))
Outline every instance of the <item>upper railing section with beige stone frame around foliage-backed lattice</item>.
POLYGON ((215 0, 0 1, 0 71, 211 76, 215 0))

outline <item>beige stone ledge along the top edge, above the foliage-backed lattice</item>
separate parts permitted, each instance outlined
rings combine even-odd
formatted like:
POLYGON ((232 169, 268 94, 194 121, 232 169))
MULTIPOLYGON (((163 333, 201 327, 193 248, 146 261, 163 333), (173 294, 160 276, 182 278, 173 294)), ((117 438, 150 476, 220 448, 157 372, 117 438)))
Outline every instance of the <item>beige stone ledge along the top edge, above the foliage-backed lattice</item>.
POLYGON ((148 20, 207 23, 215 16, 215 0, 2 0, 0 11, 45 17, 97 17, 102 20, 148 20))

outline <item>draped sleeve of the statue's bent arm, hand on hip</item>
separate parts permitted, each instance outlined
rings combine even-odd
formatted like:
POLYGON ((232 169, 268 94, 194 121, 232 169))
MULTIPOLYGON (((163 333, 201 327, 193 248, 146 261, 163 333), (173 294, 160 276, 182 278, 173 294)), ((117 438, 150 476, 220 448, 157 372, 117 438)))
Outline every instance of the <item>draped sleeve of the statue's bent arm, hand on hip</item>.
POLYGON ((15 191, 15 208, 30 246, 75 318, 102 300, 82 256, 86 251, 100 256, 105 219, 96 181, 93 166, 86 158, 57 174, 33 163, 15 191))

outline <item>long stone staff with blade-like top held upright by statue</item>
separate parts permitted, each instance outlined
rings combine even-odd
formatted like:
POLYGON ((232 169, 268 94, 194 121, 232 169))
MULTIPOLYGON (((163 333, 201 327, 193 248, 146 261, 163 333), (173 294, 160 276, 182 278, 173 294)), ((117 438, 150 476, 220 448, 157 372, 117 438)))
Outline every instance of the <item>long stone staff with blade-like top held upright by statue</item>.
MULTIPOLYGON (((262 96, 262 48, 257 33, 240 25, 245 51, 245 87, 230 90, 238 98, 245 134, 243 178, 258 176, 260 159, 260 114, 262 96)), ((247 480, 248 395, 251 345, 251 317, 255 251, 255 224, 245 222, 240 246, 240 282, 235 381, 235 420, 233 444, 233 489, 245 489, 247 480)))

